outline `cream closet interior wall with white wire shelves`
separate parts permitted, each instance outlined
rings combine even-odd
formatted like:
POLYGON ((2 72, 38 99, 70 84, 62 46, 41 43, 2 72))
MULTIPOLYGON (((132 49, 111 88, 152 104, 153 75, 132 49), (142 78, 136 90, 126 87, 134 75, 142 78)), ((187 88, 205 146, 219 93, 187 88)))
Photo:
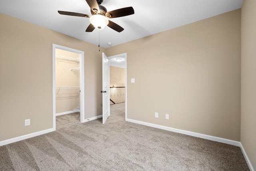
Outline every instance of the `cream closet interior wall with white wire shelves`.
POLYGON ((59 49, 56 49, 55 54, 56 114, 58 114, 73 111, 80 104, 80 55, 59 49), (74 60, 62 57, 74 58, 74 60))

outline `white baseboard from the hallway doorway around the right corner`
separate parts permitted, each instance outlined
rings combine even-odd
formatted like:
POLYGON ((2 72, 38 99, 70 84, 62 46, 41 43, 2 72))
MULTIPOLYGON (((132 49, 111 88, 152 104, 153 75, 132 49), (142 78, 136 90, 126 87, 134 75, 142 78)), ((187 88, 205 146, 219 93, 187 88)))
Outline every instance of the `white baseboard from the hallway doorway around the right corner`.
POLYGON ((196 133, 196 132, 191 132, 191 131, 185 131, 185 130, 182 130, 182 129, 176 129, 176 128, 172 128, 172 127, 156 125, 156 124, 148 123, 148 122, 136 121, 136 120, 133 120, 133 119, 126 119, 126 121, 132 122, 132 123, 138 123, 140 125, 146 125, 146 126, 149 126, 149 127, 164 129, 166 131, 182 133, 182 134, 190 135, 190 136, 193 136, 193 137, 199 137, 199 138, 208 139, 208 140, 211 140, 211 141, 217 141, 217 142, 220 142, 220 143, 226 143, 226 144, 230 144, 230 145, 240 147, 250 171, 254 171, 254 169, 252 167, 252 163, 250 162, 250 160, 249 160, 249 158, 246 154, 246 151, 244 150, 244 147, 242 146, 242 143, 240 141, 234 141, 234 140, 231 140, 231 139, 214 137, 214 136, 211 136, 211 135, 206 135, 206 134, 196 133))

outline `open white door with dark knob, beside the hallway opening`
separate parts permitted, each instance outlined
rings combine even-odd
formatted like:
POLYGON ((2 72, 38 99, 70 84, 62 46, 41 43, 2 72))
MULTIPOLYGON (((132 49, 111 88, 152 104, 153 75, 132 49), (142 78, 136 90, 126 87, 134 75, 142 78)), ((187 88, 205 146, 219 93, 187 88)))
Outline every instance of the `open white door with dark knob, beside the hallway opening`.
POLYGON ((102 123, 105 123, 110 115, 109 89, 109 62, 106 55, 102 53, 102 123))

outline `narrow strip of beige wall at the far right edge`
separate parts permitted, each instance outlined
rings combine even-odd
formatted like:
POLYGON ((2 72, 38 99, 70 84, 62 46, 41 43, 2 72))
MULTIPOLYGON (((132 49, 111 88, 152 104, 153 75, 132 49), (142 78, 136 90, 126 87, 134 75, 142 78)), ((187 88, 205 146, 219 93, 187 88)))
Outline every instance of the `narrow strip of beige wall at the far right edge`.
POLYGON ((256 1, 244 0, 241 36, 241 143, 256 170, 256 1))

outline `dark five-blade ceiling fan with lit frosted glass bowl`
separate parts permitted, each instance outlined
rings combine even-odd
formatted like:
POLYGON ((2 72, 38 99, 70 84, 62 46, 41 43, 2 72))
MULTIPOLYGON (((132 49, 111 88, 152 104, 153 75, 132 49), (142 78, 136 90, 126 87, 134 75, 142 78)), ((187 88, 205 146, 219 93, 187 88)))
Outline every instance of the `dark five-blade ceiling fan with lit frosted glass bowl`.
POLYGON ((90 17, 90 25, 86 29, 86 32, 92 32, 95 28, 103 29, 105 26, 116 30, 117 32, 122 32, 124 28, 118 24, 108 20, 108 18, 117 18, 123 16, 129 16, 134 14, 134 9, 132 7, 120 8, 108 12, 107 9, 101 5, 103 0, 86 0, 87 4, 91 8, 91 14, 81 14, 76 12, 67 12, 67 11, 58 11, 59 14, 68 15, 68 16, 78 16, 78 17, 90 17))

